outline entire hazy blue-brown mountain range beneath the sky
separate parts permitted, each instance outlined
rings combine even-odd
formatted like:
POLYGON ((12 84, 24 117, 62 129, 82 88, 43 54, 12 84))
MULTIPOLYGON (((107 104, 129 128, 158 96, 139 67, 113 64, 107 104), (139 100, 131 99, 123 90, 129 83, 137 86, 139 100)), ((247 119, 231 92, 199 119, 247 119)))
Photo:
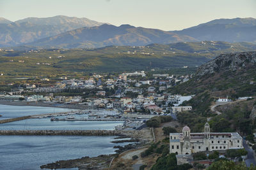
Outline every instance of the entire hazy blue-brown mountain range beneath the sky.
POLYGON ((15 22, 0 18, 0 47, 98 48, 204 40, 256 43, 256 19, 218 19, 181 31, 162 31, 127 24, 117 27, 66 16, 25 18, 15 22))

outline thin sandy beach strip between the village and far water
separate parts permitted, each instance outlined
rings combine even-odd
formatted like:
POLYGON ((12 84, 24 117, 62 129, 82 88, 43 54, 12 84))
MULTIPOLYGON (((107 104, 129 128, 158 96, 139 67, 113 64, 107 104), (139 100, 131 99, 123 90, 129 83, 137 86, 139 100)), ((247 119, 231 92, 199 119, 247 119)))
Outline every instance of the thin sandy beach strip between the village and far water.
POLYGON ((73 110, 86 110, 94 109, 90 106, 85 106, 82 104, 58 104, 58 103, 44 103, 44 102, 20 102, 20 101, 0 101, 0 104, 9 106, 36 106, 36 107, 47 107, 47 108, 64 108, 73 110))

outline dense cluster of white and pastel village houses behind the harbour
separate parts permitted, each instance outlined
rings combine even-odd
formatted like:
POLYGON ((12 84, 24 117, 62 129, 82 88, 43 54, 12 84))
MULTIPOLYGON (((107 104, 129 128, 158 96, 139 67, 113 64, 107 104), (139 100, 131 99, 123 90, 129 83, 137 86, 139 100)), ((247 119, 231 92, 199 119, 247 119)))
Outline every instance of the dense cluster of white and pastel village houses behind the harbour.
MULTIPOLYGON (((182 82, 184 78, 191 78, 191 75, 153 74, 146 76, 148 74, 144 71, 122 73, 118 76, 95 73, 90 77, 80 79, 62 76, 59 81, 50 86, 24 83, 12 92, 3 92, 0 100, 19 101, 22 99, 24 102, 80 104, 96 108, 118 108, 124 113, 157 115, 192 110, 191 106, 179 106, 179 104, 188 101, 193 96, 180 96, 167 92, 168 87, 177 85, 177 82, 182 82), (80 90, 81 93, 77 93, 77 96, 55 96, 56 93, 67 93, 68 90, 80 90), (27 92, 33 92, 34 95, 26 96, 27 92)), ((44 78, 42 81, 51 80, 44 78)))

